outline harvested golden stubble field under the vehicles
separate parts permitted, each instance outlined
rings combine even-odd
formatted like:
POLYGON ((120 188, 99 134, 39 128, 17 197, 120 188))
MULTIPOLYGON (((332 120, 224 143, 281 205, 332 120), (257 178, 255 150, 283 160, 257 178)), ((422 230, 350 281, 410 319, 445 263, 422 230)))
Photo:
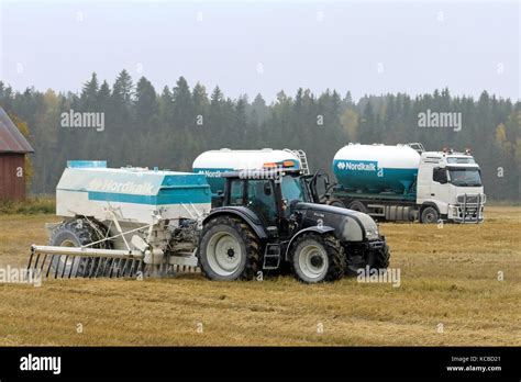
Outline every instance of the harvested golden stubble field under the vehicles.
MULTIPOLYGON (((53 221, 0 216, 0 267, 23 267, 53 221)), ((398 288, 196 274, 0 283, 0 345, 521 345, 521 207, 487 206, 481 225, 380 227, 398 288)))

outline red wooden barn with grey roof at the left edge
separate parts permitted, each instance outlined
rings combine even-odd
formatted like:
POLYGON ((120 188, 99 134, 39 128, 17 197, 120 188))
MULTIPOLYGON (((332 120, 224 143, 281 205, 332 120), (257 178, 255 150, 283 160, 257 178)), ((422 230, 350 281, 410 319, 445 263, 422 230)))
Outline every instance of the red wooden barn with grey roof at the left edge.
POLYGON ((34 153, 9 115, 0 108, 0 200, 25 199, 25 155, 34 153))

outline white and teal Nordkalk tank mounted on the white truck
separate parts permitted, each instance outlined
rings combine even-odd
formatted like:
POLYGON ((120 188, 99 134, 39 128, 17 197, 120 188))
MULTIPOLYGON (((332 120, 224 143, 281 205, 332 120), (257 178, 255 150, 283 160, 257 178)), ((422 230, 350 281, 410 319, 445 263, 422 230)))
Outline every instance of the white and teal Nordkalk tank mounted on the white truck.
POLYGON ((348 144, 333 159, 341 189, 357 193, 409 193, 419 166, 420 154, 407 145, 348 144))

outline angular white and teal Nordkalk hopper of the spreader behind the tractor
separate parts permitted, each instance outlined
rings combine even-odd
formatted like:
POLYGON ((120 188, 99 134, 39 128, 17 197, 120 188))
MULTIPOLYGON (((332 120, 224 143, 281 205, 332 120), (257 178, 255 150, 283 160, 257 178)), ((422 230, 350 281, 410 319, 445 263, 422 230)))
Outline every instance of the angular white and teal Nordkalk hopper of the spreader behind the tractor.
POLYGON ((109 210, 126 223, 152 224, 157 212, 165 220, 193 218, 211 210, 211 190, 203 175, 68 161, 56 188, 56 214, 104 221, 109 210))

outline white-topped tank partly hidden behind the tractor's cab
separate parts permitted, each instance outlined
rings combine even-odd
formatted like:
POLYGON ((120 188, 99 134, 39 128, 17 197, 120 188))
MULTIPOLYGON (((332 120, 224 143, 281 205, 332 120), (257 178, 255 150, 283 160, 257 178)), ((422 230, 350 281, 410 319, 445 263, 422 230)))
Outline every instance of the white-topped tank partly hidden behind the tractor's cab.
POLYGON ((223 172, 274 167, 300 169, 300 159, 289 149, 234 150, 222 148, 200 154, 192 165, 193 172, 207 177, 213 193, 224 190, 224 179, 221 178, 223 172))

